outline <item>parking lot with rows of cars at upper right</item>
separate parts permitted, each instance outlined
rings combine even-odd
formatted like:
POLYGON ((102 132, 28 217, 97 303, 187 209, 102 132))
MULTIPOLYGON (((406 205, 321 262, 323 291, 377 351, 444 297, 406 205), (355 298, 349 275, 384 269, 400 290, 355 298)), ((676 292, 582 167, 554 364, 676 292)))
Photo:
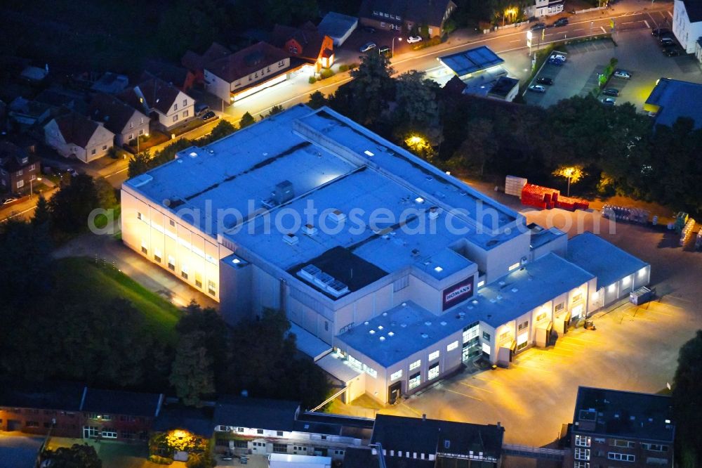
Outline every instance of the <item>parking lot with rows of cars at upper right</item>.
POLYGON ((527 91, 524 95, 527 103, 548 107, 571 96, 586 96, 597 86, 597 75, 607 67, 611 58, 618 60, 617 68, 632 75, 631 79, 612 77, 609 80, 606 87, 619 91, 619 96, 615 98, 617 105, 630 102, 642 110, 656 80, 661 77, 702 83, 702 74, 694 56, 684 53, 677 57, 665 56, 658 38, 651 36, 651 29, 646 27, 657 23, 653 20, 636 23, 629 28, 622 26, 614 34, 617 46, 609 39, 565 46, 559 53, 567 56, 567 62, 562 66, 547 62, 537 75, 552 78, 553 84, 545 86, 545 93, 527 91))

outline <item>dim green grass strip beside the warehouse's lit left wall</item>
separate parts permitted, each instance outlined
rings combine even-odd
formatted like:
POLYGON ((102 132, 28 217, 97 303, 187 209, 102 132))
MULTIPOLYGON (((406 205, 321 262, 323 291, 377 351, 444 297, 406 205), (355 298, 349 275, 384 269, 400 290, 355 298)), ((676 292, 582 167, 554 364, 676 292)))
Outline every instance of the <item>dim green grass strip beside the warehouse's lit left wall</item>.
POLYGON ((54 274, 56 290, 69 299, 88 304, 126 299, 143 314, 147 330, 155 337, 176 342, 175 326, 180 310, 111 265, 96 265, 95 260, 86 257, 68 257, 56 261, 54 274))

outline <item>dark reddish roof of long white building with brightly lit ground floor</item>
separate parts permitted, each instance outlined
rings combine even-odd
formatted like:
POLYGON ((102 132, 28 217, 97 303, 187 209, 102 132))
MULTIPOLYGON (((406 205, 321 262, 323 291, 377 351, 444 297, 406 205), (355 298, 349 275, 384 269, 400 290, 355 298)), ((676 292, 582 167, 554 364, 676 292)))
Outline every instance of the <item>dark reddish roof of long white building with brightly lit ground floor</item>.
POLYGON ((232 53, 230 56, 214 60, 208 63, 205 68, 208 72, 231 83, 286 58, 289 58, 288 53, 265 42, 259 42, 237 53, 232 53))

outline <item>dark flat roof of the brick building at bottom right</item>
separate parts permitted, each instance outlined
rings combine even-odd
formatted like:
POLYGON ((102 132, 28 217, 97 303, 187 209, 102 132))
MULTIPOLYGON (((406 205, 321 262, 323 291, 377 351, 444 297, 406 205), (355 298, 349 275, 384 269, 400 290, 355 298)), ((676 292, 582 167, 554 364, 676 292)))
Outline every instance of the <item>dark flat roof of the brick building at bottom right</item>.
POLYGON ((574 422, 578 420, 578 432, 663 442, 675 436, 670 396, 580 386, 574 422), (583 429, 583 421, 595 422, 594 428, 583 429))

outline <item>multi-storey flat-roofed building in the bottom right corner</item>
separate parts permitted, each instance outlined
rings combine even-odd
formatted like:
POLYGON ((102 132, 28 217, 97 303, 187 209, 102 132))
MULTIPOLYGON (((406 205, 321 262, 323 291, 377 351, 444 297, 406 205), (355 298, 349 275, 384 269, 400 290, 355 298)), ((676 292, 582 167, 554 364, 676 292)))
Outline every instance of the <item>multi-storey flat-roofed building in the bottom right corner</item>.
POLYGON ((578 387, 566 468, 673 467, 669 396, 578 387))

